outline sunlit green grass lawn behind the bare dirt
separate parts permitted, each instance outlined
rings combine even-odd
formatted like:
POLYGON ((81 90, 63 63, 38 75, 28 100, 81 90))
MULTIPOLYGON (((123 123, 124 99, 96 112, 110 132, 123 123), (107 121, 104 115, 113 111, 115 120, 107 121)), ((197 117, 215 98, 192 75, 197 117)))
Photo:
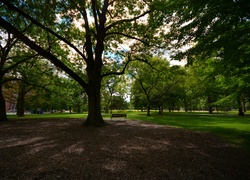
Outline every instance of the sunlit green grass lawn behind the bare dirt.
MULTIPOLYGON (((226 140, 245 148, 250 154, 250 116, 249 113, 243 117, 237 116, 237 112, 230 113, 214 113, 212 115, 206 112, 165 112, 159 115, 152 112, 150 117, 146 116, 146 112, 126 111, 122 113, 128 114, 128 119, 143 120, 155 124, 168 125, 177 128, 184 128, 195 131, 206 131, 216 135, 220 135, 226 140)), ((14 118, 9 115, 9 118, 14 118)), ((69 114, 69 113, 53 113, 53 114, 29 114, 24 118, 86 118, 87 114, 69 114)), ((104 118, 109 118, 109 114, 103 114, 104 118)))

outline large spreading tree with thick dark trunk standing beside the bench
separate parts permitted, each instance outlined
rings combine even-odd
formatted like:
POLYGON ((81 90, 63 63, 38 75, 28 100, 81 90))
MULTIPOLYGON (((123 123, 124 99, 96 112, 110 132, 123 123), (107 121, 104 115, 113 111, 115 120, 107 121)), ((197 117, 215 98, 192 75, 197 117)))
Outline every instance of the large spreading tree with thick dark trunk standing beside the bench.
POLYGON ((104 124, 100 111, 102 78, 123 74, 128 62, 134 56, 150 52, 149 49, 156 44, 162 46, 159 40, 163 35, 161 25, 163 11, 166 10, 165 1, 0 0, 0 2, 1 9, 16 13, 17 16, 32 23, 36 30, 24 35, 19 27, 3 15, 0 17, 0 26, 38 54, 49 59, 83 87, 88 95, 88 117, 84 123, 87 126, 104 124), (51 38, 60 41, 78 61, 72 61, 72 56, 60 56, 46 50, 42 43, 35 40, 39 37, 39 32, 50 33, 51 38), (127 54, 130 54, 128 59, 126 59, 127 54), (119 66, 118 69, 109 72, 105 70, 105 66, 110 64, 106 59, 112 56, 120 57, 113 60, 113 63, 119 66))

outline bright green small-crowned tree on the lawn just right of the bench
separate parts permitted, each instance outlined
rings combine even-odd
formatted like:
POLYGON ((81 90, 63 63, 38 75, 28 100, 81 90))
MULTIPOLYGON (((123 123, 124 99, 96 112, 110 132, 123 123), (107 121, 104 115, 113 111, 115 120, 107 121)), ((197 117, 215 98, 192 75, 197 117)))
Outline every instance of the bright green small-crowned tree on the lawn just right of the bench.
POLYGON ((146 100, 148 116, 150 116, 150 109, 153 104, 157 104, 159 113, 162 112, 163 104, 166 104, 163 101, 166 99, 170 101, 170 98, 166 97, 174 94, 174 91, 183 81, 181 74, 184 73, 178 66, 170 67, 166 59, 153 57, 149 62, 151 64, 133 63, 129 69, 130 75, 135 79, 132 87, 134 102, 138 103, 138 100, 145 102, 146 100))

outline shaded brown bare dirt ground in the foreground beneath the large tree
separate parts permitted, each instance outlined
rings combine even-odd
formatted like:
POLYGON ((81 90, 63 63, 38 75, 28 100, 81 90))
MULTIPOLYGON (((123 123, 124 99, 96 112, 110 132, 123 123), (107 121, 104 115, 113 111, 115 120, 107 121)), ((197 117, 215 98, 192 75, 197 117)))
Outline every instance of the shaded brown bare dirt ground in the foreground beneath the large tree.
POLYGON ((250 179, 243 150, 201 132, 83 120, 0 123, 0 179, 250 179))

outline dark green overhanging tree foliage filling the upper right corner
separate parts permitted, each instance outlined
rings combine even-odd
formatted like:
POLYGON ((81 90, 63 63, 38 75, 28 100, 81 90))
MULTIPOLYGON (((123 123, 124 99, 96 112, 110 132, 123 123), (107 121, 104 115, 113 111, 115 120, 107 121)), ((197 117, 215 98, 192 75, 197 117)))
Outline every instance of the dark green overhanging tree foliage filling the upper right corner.
MULTIPOLYGON (((241 79, 237 78, 237 82, 244 81, 244 88, 249 87, 246 85, 250 72, 249 9, 248 0, 169 1, 171 16, 166 20, 171 26, 167 40, 177 50, 175 58, 187 59, 189 64, 213 58, 220 74, 227 78, 237 76, 241 79)), ((241 97, 244 88, 241 84, 234 89, 238 94, 240 115, 243 115, 241 97)), ((214 100, 208 96, 208 101, 214 100)))

